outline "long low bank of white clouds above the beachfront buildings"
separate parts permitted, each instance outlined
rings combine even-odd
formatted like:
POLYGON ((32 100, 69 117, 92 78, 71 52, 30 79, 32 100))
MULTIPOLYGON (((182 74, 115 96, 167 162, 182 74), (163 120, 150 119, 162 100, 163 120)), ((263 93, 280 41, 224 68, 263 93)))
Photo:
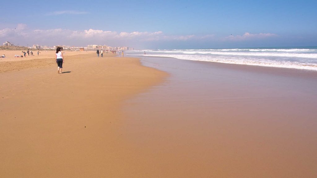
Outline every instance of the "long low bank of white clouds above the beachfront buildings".
MULTIPOLYGON (((15 29, 0 30, 0 37, 3 39, 14 39, 15 41, 39 41, 35 43, 51 43, 52 41, 68 41, 67 43, 74 43, 72 41, 80 41, 87 43, 100 43, 107 41, 131 41, 131 42, 150 42, 150 41, 188 41, 188 40, 210 40, 214 35, 196 36, 196 35, 165 35, 162 31, 156 32, 116 32, 105 31, 99 29, 88 30, 69 30, 69 29, 35 29, 29 30, 26 24, 17 24, 15 29), (28 38, 29 37, 29 38, 28 38), (46 41, 46 42, 43 42, 46 41)), ((21 44, 22 42, 20 42, 21 44)), ((65 42, 64 42, 65 43, 65 42)), ((73 44, 77 45, 77 44, 73 44)))

